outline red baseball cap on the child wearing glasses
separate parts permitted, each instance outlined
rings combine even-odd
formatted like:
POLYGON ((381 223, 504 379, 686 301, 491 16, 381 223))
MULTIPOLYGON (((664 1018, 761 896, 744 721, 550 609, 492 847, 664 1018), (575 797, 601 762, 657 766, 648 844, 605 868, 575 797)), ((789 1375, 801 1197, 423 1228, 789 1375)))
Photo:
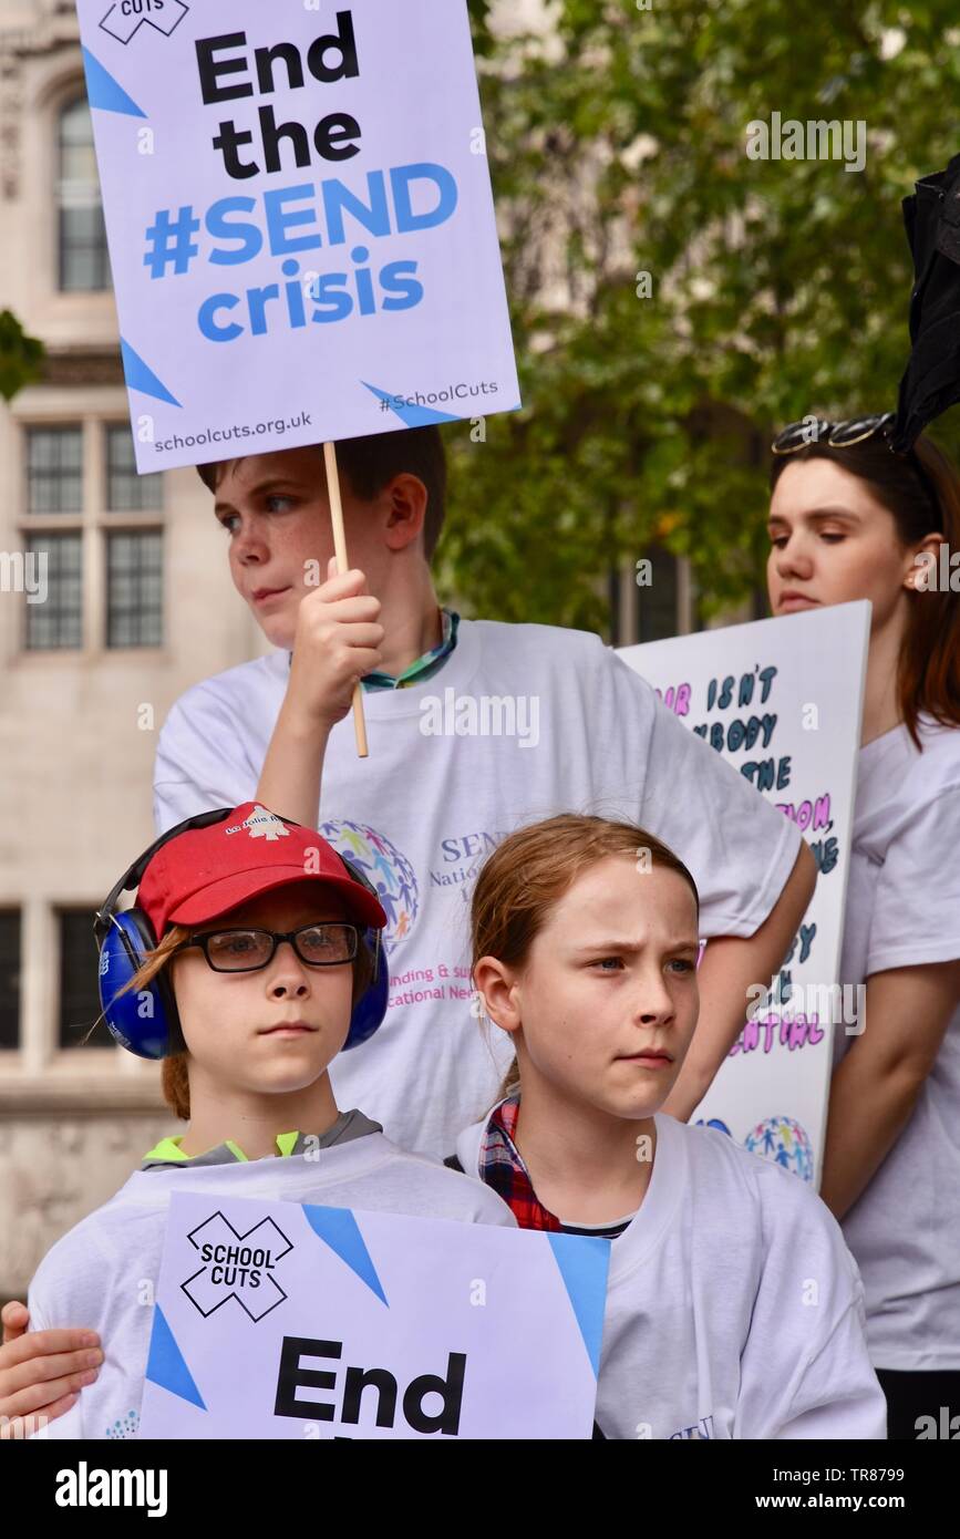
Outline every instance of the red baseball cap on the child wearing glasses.
POLYGON ((314 828, 288 823, 258 802, 243 802, 218 823, 188 828, 162 845, 137 890, 157 940, 171 925, 202 925, 231 908, 294 882, 317 882, 348 905, 352 919, 383 930, 377 897, 355 882, 314 828))

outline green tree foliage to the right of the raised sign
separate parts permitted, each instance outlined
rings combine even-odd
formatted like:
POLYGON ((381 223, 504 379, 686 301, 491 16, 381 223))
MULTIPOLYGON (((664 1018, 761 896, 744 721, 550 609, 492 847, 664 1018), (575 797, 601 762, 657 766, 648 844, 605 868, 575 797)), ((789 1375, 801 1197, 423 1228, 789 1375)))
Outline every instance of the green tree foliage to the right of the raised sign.
POLYGON ((609 568, 660 542, 717 611, 762 580, 771 428, 895 405, 900 202, 960 149, 955 0, 552 0, 520 37, 471 14, 525 405, 486 443, 449 429, 445 579, 603 629, 609 568), (865 168, 749 159, 774 112, 863 122, 865 168))

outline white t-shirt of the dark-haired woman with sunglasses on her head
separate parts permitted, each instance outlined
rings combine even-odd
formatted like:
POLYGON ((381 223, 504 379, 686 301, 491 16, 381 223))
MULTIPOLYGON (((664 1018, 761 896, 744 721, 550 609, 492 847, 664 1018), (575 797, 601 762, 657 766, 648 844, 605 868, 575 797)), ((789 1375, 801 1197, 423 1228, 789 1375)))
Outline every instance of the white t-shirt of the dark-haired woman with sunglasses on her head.
MULTIPOLYGON (((960 957, 960 731, 860 749, 840 977, 960 957)), ((866 1033, 869 1033, 869 1010, 866 1033)), ((855 1036, 835 1028, 834 1057, 855 1036)), ((903 1133, 843 1220, 878 1368, 960 1368, 960 1007, 903 1133)))

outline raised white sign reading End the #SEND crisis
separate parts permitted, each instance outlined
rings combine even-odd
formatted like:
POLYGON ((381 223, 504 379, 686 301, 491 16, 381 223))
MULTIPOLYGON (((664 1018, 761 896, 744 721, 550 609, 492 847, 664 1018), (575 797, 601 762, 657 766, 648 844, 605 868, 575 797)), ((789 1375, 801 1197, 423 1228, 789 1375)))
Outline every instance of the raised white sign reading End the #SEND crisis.
POLYGON ((466 0, 78 0, 146 471, 515 411, 466 0))

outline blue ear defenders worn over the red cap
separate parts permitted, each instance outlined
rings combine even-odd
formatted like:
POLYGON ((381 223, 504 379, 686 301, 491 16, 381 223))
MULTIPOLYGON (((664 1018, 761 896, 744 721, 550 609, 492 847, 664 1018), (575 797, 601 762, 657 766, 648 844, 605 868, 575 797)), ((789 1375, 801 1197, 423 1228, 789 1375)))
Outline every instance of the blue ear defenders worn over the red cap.
MULTIPOLYGON (((171 1057, 174 1053, 185 1051, 186 1043, 180 1030, 177 1000, 174 999, 166 968, 157 973, 146 988, 128 990, 125 994, 120 993, 140 966, 143 966, 148 954, 155 950, 157 936, 142 908, 134 906, 117 913, 117 902, 122 893, 132 893, 134 888, 140 886, 143 873, 165 843, 177 839, 178 834, 185 834, 189 828, 208 828, 211 823, 220 823, 225 817, 231 817, 232 813, 234 808, 222 806, 214 813, 200 813, 197 817, 188 817, 183 823, 177 823, 175 828, 168 830, 123 873, 103 906, 97 911, 94 934, 100 951, 100 1005, 103 1008, 103 1019, 111 1036, 120 1047, 125 1047, 129 1053, 135 1053, 137 1057, 171 1057)), ((285 817, 283 822, 289 823, 291 819, 285 817)), ((295 828, 297 825, 291 823, 291 826, 295 828)), ((343 856, 340 856, 340 860, 348 876, 378 900, 380 894, 363 871, 351 865, 349 860, 345 860, 343 856)), ((360 925, 358 930, 360 945, 366 946, 371 957, 372 979, 354 1005, 343 1051, 355 1048, 362 1042, 366 1042, 368 1037, 372 1037, 386 1016, 389 993, 389 970, 386 951, 383 950, 383 936, 378 930, 365 925, 360 925)))

